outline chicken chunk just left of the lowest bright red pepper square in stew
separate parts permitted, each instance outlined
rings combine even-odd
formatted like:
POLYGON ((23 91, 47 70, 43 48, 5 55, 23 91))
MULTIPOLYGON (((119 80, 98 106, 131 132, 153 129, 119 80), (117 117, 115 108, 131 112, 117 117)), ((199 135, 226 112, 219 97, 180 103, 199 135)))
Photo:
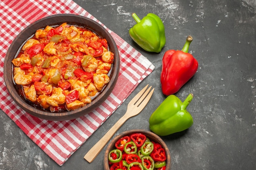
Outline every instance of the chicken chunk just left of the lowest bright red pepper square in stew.
POLYGON ((52 95, 46 99, 46 102, 52 106, 58 106, 59 104, 64 104, 66 96, 62 93, 62 88, 54 88, 52 90, 52 95))

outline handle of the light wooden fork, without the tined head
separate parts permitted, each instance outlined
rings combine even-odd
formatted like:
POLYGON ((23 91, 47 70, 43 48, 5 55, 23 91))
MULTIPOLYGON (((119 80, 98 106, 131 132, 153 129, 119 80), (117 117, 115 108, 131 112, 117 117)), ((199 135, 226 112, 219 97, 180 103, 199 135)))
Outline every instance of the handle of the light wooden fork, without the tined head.
POLYGON ((112 128, 110 128, 110 130, 108 130, 108 132, 85 154, 83 158, 91 163, 127 119, 128 117, 126 117, 126 114, 121 117, 117 123, 115 123, 115 125, 112 126, 112 128))

